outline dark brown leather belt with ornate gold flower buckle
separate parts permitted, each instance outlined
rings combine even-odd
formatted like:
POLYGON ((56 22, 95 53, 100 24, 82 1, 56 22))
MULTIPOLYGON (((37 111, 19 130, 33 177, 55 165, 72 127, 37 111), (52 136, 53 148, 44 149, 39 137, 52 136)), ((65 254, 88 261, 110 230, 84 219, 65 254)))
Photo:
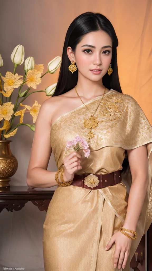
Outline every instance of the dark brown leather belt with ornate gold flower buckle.
POLYGON ((84 187, 87 189, 101 189, 106 186, 116 185, 121 182, 121 171, 117 170, 108 174, 87 173, 74 175, 71 185, 84 187))

